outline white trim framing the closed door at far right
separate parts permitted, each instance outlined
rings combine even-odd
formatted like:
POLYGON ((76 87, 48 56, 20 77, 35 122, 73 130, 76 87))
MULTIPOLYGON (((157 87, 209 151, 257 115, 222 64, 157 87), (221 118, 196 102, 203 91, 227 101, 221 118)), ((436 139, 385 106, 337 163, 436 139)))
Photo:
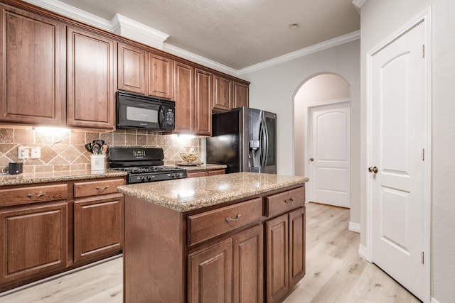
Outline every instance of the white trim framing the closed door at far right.
POLYGON ((419 13, 414 17, 410 22, 406 23, 400 29, 395 31, 387 39, 383 40, 382 43, 379 43, 378 46, 373 48, 367 53, 367 62, 366 62, 366 75, 367 75, 367 95, 366 95, 366 162, 363 165, 363 170, 361 176, 365 180, 365 190, 366 190, 366 247, 359 246, 359 254, 363 256, 369 262, 372 261, 372 197, 370 188, 371 178, 368 177, 367 167, 371 166, 372 163, 372 150, 371 150, 371 138, 373 126, 371 125, 372 106, 371 102, 373 96, 371 95, 372 91, 372 61, 373 55, 378 53, 382 48, 385 48, 388 44, 392 43, 394 40, 399 38, 401 35, 405 34, 410 29, 417 26, 417 24, 424 22, 425 26, 425 57, 429 60, 425 60, 425 110, 426 116, 424 123, 424 132, 425 132, 425 162, 424 162, 424 302, 430 302, 431 300, 431 207, 432 207, 432 188, 431 188, 431 162, 432 162, 432 78, 431 78, 431 8, 427 8, 422 13, 419 13))

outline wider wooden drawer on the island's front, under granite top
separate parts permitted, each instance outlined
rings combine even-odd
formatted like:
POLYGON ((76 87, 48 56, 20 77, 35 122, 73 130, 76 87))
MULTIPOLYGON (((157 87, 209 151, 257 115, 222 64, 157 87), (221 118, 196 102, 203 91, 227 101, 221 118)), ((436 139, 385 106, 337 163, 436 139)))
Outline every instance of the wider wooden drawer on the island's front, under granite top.
POLYGON ((190 246, 257 221, 262 217, 262 199, 256 198, 188 217, 190 246))

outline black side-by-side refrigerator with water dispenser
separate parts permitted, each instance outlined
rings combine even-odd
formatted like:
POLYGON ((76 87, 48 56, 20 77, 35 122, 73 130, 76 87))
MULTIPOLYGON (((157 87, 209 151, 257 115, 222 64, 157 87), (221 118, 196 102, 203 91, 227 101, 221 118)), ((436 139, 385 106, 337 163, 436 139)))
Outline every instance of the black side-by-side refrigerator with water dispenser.
POLYGON ((277 114, 239 107, 212 115, 206 141, 209 164, 228 165, 226 173, 277 173, 277 114))

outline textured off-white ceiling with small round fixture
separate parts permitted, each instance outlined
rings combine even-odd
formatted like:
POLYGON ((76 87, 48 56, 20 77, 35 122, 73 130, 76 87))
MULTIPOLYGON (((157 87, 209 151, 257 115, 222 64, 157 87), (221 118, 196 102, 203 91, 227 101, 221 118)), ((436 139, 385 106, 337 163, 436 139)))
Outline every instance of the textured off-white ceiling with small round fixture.
POLYGON ((170 45, 235 70, 360 29, 352 0, 60 1, 107 20, 119 13, 168 34, 170 45))

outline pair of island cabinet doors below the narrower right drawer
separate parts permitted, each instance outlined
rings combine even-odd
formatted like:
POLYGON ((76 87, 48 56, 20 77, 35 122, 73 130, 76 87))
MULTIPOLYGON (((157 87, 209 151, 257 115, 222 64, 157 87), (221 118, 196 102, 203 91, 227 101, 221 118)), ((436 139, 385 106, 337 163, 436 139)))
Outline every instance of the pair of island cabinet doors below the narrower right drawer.
POLYGON ((279 302, 305 275, 305 208, 265 223, 267 302, 279 302))

